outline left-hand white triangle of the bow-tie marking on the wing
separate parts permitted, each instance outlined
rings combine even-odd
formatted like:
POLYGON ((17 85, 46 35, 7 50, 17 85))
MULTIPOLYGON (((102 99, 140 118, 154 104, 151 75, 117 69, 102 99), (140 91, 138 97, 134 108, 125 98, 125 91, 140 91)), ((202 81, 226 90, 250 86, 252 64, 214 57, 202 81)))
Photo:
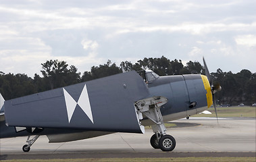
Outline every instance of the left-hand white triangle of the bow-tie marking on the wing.
POLYGON ((64 88, 63 88, 63 92, 64 92, 66 107, 67 107, 67 111, 68 111, 68 122, 70 123, 70 120, 75 111, 77 103, 64 88))

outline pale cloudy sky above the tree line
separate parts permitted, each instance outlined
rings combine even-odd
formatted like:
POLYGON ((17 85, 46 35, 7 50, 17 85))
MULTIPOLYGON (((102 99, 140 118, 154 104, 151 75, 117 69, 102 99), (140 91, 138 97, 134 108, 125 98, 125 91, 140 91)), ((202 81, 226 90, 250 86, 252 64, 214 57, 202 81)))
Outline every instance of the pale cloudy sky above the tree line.
MULTIPOLYGON (((253 0, 0 0, 0 72, 41 75, 50 59, 75 65, 144 57, 256 72, 253 0)), ((42 76, 42 75, 41 75, 42 76)))

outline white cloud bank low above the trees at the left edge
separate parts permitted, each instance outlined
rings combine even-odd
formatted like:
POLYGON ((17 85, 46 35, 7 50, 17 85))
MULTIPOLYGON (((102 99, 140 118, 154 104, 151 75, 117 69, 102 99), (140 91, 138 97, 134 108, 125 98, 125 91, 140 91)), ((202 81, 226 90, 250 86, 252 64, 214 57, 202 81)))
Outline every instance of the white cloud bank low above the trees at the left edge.
POLYGON ((93 65, 99 65, 105 61, 103 57, 98 57, 95 53, 89 53, 87 56, 52 56, 50 53, 35 53, 26 50, 19 51, 0 51, 1 71, 14 74, 28 74, 32 77, 35 73, 41 75, 41 63, 50 59, 66 61, 68 65, 75 65, 79 72, 91 70, 93 65), (14 53, 19 53, 15 55, 14 53))

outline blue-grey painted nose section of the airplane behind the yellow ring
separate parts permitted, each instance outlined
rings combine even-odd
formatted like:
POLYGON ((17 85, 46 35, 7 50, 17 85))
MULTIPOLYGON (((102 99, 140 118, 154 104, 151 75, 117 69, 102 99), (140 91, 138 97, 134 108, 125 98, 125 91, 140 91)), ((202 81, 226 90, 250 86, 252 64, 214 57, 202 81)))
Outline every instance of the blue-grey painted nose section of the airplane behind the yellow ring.
MULTIPOLYGON (((177 75, 161 76, 149 84, 151 96, 163 96, 168 103, 161 107, 162 115, 180 113, 207 106, 206 90, 201 75, 177 75), (191 102, 197 102, 197 106, 190 109, 191 102)), ((186 117, 186 116, 184 116, 186 117)))

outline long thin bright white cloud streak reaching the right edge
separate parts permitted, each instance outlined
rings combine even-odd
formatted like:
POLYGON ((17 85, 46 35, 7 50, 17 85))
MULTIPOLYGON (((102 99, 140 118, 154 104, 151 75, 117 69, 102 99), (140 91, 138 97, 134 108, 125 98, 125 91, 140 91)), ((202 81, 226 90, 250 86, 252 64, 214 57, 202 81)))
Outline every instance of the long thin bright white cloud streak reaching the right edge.
POLYGON ((220 23, 195 23, 184 22, 182 24, 151 24, 151 22, 133 22, 127 25, 126 22, 118 22, 113 28, 117 28, 116 32, 109 34, 111 36, 118 34, 127 34, 129 32, 186 32, 193 35, 203 35, 212 32, 240 32, 250 31, 256 28, 256 23, 252 24, 220 24, 220 23))

